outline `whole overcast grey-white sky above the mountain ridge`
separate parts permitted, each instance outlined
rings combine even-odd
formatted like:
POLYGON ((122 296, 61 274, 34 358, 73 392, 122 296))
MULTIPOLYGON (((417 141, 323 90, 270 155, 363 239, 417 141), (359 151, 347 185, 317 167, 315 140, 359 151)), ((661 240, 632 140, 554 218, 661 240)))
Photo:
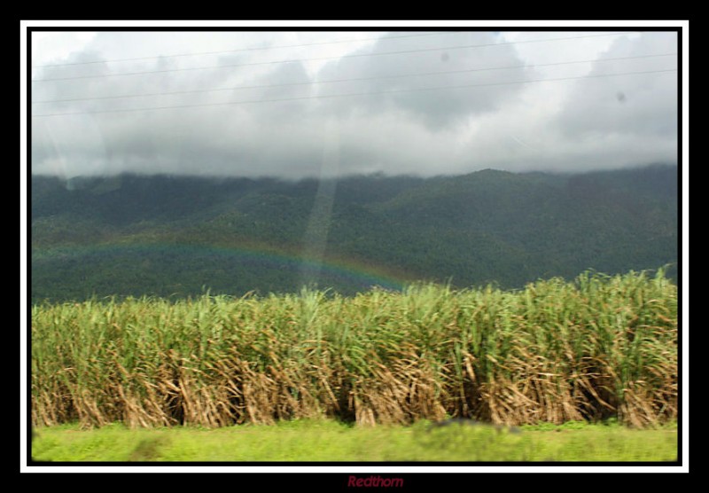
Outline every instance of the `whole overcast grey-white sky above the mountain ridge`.
POLYGON ((612 29, 35 32, 30 165, 298 178, 676 163, 677 50, 672 31, 612 29))

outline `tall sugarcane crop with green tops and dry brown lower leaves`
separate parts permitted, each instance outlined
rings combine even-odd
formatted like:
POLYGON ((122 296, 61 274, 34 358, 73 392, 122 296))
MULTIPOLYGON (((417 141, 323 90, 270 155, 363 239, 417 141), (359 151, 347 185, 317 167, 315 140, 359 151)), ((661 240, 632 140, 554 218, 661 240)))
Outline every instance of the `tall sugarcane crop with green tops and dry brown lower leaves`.
POLYGON ((643 428, 677 416, 677 288, 659 270, 518 291, 43 304, 31 363, 33 426, 453 416, 643 428))

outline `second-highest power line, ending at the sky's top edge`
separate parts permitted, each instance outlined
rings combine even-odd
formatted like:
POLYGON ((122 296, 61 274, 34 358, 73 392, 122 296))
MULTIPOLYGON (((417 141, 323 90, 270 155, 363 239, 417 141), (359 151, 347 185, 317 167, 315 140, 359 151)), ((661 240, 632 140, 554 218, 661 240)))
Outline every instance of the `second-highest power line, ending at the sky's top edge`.
POLYGON ((375 57, 381 55, 402 55, 408 53, 419 53, 425 51, 441 51, 441 50, 463 50, 467 48, 483 48, 487 46, 504 46, 508 44, 518 44, 518 43, 542 43, 548 41, 568 41, 572 39, 584 39, 589 37, 602 37, 602 36, 613 36, 613 35, 627 35, 627 33, 612 33, 604 35, 583 35, 583 36, 571 36, 571 37, 557 37, 557 38, 547 38, 547 39, 534 39, 526 41, 510 41, 505 43, 484 43, 484 44, 464 44, 457 46, 442 46, 437 48, 421 48, 417 50, 403 50, 403 51, 381 51, 378 53, 352 53, 349 55, 339 55, 331 57, 316 57, 313 59, 291 59, 291 60, 274 60, 267 62, 250 62, 250 63, 240 63, 240 64, 230 64, 230 65, 219 65, 219 66, 208 66, 208 67, 184 67, 184 68, 167 68, 163 70, 145 70, 141 72, 123 72, 120 74, 96 74, 96 75, 78 75, 74 77, 54 77, 49 79, 35 79, 32 82, 52 82, 52 81, 74 81, 81 79, 97 79, 102 77, 117 77, 121 75, 145 75, 145 74, 164 74, 168 72, 184 72, 188 70, 206 70, 206 69, 221 69, 221 68, 234 68, 234 67, 253 67, 257 65, 272 65, 279 63, 293 63, 293 62, 306 62, 306 61, 316 61, 316 60, 327 60, 327 59, 350 59, 355 57, 375 57))

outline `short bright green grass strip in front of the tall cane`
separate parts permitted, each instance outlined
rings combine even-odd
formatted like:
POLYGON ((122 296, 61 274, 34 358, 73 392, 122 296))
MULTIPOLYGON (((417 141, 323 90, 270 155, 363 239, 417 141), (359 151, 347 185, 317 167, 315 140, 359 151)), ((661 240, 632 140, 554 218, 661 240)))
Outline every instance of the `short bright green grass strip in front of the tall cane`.
POLYGON ((82 430, 74 424, 40 429, 32 453, 71 462, 655 462, 677 458, 677 430, 576 423, 510 434, 492 426, 373 428, 333 420, 215 429, 113 424, 82 430))

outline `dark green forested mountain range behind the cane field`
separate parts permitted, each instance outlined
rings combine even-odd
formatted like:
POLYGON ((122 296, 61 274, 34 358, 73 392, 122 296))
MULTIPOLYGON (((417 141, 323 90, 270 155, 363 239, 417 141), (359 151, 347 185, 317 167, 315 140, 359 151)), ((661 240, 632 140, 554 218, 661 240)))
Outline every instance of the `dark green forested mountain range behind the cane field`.
POLYGON ((677 261, 677 175, 32 176, 32 301, 657 269, 677 261))

